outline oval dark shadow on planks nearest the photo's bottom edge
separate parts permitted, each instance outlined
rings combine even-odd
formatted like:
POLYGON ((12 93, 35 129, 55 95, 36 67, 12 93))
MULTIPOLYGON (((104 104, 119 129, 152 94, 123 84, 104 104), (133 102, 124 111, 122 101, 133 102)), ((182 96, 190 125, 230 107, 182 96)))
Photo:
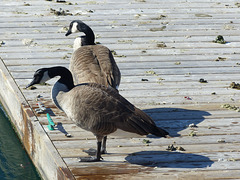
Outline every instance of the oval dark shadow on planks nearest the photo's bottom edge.
POLYGON ((202 155, 169 151, 141 151, 125 159, 131 164, 161 168, 206 168, 213 164, 213 161, 202 155))

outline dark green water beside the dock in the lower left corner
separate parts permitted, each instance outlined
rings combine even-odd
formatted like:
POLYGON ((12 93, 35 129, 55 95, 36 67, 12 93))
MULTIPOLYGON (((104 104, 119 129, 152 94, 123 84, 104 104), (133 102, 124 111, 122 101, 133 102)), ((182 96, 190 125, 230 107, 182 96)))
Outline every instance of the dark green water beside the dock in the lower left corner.
POLYGON ((0 105, 0 180, 40 180, 0 105))

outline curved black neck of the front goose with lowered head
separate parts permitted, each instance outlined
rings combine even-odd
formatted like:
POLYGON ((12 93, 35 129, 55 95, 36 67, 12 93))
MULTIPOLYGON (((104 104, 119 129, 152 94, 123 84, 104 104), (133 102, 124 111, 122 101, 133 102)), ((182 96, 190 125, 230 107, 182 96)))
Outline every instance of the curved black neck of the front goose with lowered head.
POLYGON ((74 88, 72 74, 67 68, 62 66, 52 67, 52 68, 49 68, 48 74, 50 78, 53 78, 55 76, 60 76, 60 79, 58 80, 58 82, 66 85, 69 91, 72 88, 74 88))

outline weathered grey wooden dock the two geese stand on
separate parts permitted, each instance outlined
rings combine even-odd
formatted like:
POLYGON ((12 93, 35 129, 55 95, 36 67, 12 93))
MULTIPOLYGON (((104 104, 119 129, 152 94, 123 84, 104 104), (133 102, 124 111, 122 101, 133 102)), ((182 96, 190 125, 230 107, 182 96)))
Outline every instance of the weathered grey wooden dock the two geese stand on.
POLYGON ((233 0, 2 0, 1 102, 43 179, 240 179, 240 91, 231 86, 240 83, 239 7, 233 0), (24 89, 38 68, 69 66, 76 36, 65 32, 75 19, 115 52, 120 94, 172 138, 110 137, 102 162, 78 162, 96 141, 54 106, 55 80, 24 89), (218 35, 226 43, 213 42, 218 35), (38 95, 56 130, 35 112, 38 95))

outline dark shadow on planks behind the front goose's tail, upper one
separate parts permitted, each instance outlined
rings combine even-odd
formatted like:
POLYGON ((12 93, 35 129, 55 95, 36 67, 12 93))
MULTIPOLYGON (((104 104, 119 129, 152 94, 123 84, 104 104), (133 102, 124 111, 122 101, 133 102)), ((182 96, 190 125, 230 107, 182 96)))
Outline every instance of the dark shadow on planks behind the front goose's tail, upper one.
POLYGON ((180 136, 178 132, 188 128, 190 124, 197 126, 205 119, 205 116, 211 115, 206 111, 181 108, 154 108, 146 109, 144 112, 151 116, 158 127, 168 131, 172 137, 180 136))

